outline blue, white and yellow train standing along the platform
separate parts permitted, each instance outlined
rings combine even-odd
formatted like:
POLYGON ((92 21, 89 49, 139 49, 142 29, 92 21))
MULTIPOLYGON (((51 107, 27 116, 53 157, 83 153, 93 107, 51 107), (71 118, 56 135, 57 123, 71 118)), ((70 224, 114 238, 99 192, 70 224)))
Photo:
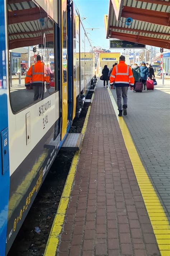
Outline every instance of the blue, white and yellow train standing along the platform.
MULTIPOLYGON (((16 234, 79 111, 94 52, 70 0, 0 0, 0 256, 16 234), (51 86, 33 101, 13 69, 40 54, 51 86), (50 56, 54 56, 51 60, 50 56), (49 147, 49 144, 52 145, 49 147)), ((25 65, 26 65, 25 64, 25 65)))

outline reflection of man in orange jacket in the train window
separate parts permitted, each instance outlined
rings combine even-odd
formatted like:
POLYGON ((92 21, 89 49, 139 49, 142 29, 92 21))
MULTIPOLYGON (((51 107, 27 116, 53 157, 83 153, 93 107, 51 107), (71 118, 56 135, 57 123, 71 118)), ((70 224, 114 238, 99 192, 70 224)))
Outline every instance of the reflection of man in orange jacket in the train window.
POLYGON ((41 62, 41 56, 37 55, 37 63, 30 66, 27 75, 25 77, 25 86, 27 89, 31 85, 34 90, 34 100, 38 98, 44 98, 44 82, 49 85, 49 74, 46 72, 46 67, 43 62, 41 62))

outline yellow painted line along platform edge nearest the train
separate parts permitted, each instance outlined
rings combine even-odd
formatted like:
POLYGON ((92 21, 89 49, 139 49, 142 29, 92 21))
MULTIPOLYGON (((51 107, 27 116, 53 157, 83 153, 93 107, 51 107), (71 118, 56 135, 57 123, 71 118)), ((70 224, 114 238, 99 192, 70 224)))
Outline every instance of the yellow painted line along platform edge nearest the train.
MULTIPOLYGON (((93 97, 94 97, 94 94, 92 95, 92 100, 93 100, 93 97)), ((88 112, 86 114, 86 118, 85 118, 85 121, 84 121, 84 125, 83 125, 82 130, 81 130, 82 141, 84 139, 86 127, 87 127, 87 124, 88 124, 90 109, 91 109, 91 105, 89 105, 88 112)), ((72 184, 73 184, 74 177, 75 177, 76 167, 77 167, 77 164, 78 164, 78 161, 79 161, 81 148, 82 148, 82 144, 81 144, 80 150, 77 151, 75 153, 74 157, 73 157, 71 167, 70 167, 70 171, 69 171, 69 174, 67 176, 67 180, 66 180, 63 192, 62 192, 61 199, 60 199, 60 204, 59 204, 58 209, 57 209, 57 214, 56 214, 55 219, 53 221, 51 232, 50 232, 49 237, 48 237, 48 241, 47 241, 46 249, 45 249, 45 252, 44 252, 44 256, 55 256, 56 255, 56 250, 57 250, 57 246, 58 246, 58 242, 59 242, 59 236, 60 236, 61 230, 63 228, 65 214, 66 214, 67 206, 68 206, 68 203, 69 203, 70 193, 71 193, 72 184)))

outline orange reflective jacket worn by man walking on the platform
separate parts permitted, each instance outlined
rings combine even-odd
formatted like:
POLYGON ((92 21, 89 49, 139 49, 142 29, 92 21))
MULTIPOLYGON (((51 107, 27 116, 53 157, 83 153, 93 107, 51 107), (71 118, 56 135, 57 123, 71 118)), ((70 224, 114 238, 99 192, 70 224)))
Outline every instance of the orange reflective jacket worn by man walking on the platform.
POLYGON ((119 61, 119 64, 114 66, 110 75, 110 85, 115 86, 133 86, 134 77, 132 69, 124 61, 119 61))

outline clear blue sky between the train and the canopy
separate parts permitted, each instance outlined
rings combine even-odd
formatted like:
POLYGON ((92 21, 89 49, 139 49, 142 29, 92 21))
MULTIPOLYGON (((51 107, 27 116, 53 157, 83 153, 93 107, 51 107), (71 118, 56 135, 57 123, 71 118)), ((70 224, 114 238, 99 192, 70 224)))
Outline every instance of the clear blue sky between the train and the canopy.
POLYGON ((91 44, 109 49, 109 39, 106 39, 104 15, 108 14, 109 0, 74 0, 79 9, 80 17, 87 17, 82 21, 85 28, 99 28, 98 30, 86 30, 91 44))

